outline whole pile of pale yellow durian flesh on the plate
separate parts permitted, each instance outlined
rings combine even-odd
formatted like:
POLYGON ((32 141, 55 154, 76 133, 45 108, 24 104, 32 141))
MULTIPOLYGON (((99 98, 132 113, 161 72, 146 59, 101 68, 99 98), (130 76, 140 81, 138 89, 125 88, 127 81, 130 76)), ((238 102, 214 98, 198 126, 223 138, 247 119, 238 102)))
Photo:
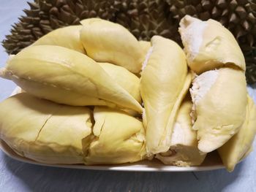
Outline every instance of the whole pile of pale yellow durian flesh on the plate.
POLYGON ((199 166, 217 150, 228 171, 252 150, 256 107, 244 55, 215 20, 185 16, 176 42, 138 41, 99 18, 56 29, 10 55, 20 88, 0 104, 0 138, 45 164, 158 158, 199 166))

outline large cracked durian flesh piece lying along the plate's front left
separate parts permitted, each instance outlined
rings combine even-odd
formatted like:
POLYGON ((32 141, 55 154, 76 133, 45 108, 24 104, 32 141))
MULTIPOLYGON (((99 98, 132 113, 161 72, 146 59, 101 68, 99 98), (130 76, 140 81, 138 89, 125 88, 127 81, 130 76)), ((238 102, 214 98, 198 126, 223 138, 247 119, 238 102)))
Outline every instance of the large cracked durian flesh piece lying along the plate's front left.
POLYGON ((0 139, 45 164, 123 164, 145 157, 140 120, 108 107, 95 107, 93 115, 86 107, 18 93, 0 103, 0 139))

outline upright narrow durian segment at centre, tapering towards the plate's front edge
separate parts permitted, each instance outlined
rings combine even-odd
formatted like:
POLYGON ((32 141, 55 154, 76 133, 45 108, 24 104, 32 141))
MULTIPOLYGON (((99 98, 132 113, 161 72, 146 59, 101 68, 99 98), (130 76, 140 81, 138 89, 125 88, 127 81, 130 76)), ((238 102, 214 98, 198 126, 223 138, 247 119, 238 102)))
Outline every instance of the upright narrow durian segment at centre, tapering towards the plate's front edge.
POLYGON ((176 42, 154 36, 151 45, 140 83, 148 155, 169 149, 176 113, 191 82, 185 54, 176 42))

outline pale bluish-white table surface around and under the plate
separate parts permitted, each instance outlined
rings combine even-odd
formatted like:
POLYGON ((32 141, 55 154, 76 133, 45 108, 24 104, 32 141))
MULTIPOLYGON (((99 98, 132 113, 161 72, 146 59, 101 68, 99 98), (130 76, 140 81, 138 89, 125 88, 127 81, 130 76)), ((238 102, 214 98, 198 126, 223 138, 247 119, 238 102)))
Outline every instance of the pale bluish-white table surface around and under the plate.
MULTIPOLYGON (((23 0, 1 0, 0 40, 18 21, 23 0)), ((0 46, 0 66, 7 54, 0 46)), ((0 79, 0 101, 15 84, 0 79)), ((256 94, 254 94, 256 96, 256 94)), ((255 145, 256 146, 256 145, 255 145)), ((256 150, 232 173, 210 172, 107 172, 35 166, 12 160, 0 151, 0 191, 256 191, 256 150)))

